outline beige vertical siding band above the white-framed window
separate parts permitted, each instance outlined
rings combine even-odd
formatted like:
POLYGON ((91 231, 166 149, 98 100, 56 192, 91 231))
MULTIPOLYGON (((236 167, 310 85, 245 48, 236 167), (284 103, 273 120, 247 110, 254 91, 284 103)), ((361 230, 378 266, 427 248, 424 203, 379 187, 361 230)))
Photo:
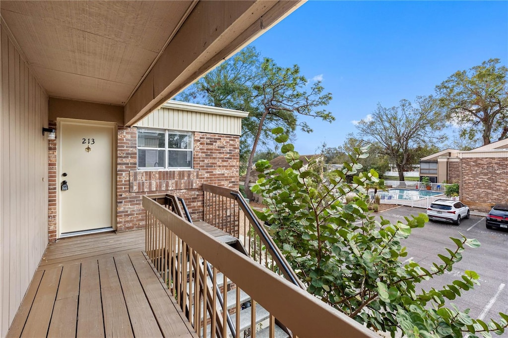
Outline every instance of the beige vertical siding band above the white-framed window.
POLYGON ((145 117, 136 126, 241 135, 241 121, 241 117, 236 116, 207 114, 163 107, 145 117))

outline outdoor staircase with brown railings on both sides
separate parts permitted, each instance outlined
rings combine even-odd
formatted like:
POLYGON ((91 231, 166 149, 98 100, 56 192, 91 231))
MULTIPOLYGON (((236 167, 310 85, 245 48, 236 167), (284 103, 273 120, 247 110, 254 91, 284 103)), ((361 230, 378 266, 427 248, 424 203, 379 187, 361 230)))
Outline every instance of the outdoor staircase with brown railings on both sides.
POLYGON ((302 288, 237 191, 205 184, 203 190, 205 222, 189 222, 176 196, 142 202, 147 258, 196 335, 375 336, 302 288))

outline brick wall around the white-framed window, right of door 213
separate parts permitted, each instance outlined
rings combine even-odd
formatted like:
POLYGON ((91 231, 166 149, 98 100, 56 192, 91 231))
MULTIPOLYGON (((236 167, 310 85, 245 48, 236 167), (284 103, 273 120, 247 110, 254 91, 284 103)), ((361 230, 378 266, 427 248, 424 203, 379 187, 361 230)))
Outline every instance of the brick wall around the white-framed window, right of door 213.
POLYGON ((203 183, 238 189, 238 136, 195 132, 192 170, 138 171, 136 132, 136 128, 118 128, 118 231, 144 227, 143 195, 178 195, 185 200, 193 220, 202 220, 203 183))

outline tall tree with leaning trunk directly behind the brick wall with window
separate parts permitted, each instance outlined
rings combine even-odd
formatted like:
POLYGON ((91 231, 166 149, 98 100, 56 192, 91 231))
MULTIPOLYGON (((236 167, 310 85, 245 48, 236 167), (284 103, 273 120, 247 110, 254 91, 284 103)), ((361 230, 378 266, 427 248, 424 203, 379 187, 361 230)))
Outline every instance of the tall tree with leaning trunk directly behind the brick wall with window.
MULTIPOLYGON (((242 121, 240 139, 240 171, 245 170, 246 180, 258 146, 273 141, 271 128, 283 124, 288 134, 298 127, 311 132, 307 123, 298 120, 298 115, 333 121, 331 113, 320 109, 331 98, 330 93, 324 93, 321 81, 309 83, 297 65, 284 68, 269 58, 262 61, 254 47, 243 49, 177 97, 249 112, 242 121)), ((251 196, 248 189, 246 193, 251 196)))

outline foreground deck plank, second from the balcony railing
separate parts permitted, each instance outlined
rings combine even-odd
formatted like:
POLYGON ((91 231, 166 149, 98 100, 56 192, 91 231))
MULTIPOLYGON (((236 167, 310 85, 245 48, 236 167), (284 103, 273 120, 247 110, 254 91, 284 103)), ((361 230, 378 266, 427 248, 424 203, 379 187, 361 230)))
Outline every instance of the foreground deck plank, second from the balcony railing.
POLYGON ((122 285, 123 296, 131 317, 134 335, 137 337, 162 337, 150 304, 128 255, 115 257, 116 269, 122 285))

